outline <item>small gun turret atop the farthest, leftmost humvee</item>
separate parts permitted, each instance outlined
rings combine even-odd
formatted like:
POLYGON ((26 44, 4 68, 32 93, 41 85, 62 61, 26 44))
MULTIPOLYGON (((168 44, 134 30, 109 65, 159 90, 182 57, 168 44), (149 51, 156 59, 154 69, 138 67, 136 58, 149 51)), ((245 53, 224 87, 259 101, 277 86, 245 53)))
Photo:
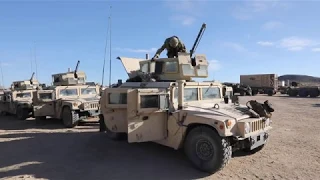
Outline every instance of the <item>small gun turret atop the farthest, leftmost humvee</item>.
POLYGON ((34 73, 32 73, 31 78, 29 80, 13 81, 11 84, 11 90, 35 90, 39 88, 39 86, 40 84, 38 80, 34 79, 34 73))

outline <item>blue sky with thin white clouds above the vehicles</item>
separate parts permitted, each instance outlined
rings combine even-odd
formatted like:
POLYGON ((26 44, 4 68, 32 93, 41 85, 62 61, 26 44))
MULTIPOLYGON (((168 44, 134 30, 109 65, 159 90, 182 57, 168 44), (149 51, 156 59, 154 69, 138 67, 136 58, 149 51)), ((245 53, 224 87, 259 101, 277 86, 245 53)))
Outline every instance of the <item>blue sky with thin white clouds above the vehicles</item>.
MULTIPOLYGON (((101 83, 110 5, 112 83, 127 78, 116 57, 153 56, 171 35, 191 49, 203 22, 207 28, 196 53, 210 62, 208 79, 238 82, 240 74, 252 73, 320 76, 319 1, 0 0, 4 85, 28 79, 31 60, 35 71, 34 44, 42 83, 74 69, 77 60, 88 81, 101 83)), ((109 56, 108 50, 105 85, 109 56)))

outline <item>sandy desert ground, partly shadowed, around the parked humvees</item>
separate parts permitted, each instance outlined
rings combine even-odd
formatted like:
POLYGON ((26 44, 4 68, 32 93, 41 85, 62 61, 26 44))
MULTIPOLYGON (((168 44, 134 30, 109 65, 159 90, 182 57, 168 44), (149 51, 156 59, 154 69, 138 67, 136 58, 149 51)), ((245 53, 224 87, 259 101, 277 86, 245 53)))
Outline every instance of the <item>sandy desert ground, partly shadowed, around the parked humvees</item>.
POLYGON ((285 95, 240 97, 269 100, 274 108, 268 145, 238 152, 216 174, 194 169, 183 152, 154 143, 114 142, 98 124, 65 129, 56 120, 36 125, 0 117, 2 179, 319 179, 320 98, 285 95))

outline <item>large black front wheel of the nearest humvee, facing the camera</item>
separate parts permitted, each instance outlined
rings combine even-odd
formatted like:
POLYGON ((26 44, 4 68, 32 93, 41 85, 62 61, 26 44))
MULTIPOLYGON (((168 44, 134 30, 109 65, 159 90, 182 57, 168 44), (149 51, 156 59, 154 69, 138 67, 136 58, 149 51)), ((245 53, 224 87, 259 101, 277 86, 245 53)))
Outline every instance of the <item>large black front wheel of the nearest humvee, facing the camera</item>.
POLYGON ((223 169, 232 155, 227 140, 206 126, 195 127, 188 133, 184 151, 197 169, 208 173, 223 169))

